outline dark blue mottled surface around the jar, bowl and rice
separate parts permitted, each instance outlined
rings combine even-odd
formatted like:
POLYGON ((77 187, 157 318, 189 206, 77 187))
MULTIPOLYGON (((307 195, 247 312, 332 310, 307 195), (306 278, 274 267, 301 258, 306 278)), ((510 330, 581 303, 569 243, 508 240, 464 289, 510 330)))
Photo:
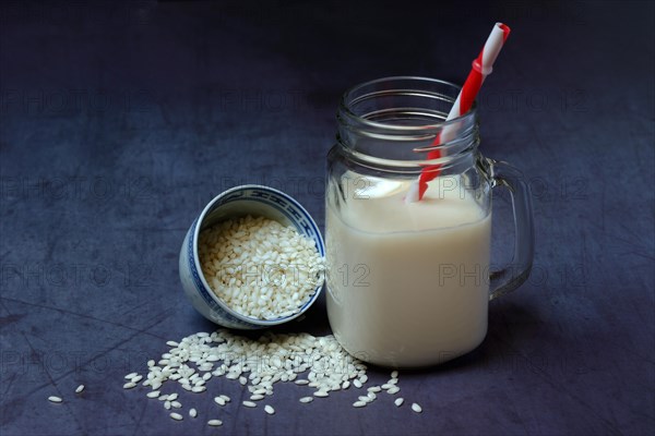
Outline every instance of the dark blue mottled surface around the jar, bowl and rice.
MULTIPOLYGON (((652 434, 653 3, 314 3, 1 2, 0 433, 652 434), (177 275, 206 202, 264 183, 322 226, 341 93, 461 83, 498 20, 512 36, 479 101, 481 149, 529 180, 535 269, 491 304, 477 350, 401 375, 422 414, 279 386, 275 415, 182 395, 199 419, 174 422, 121 388, 166 340, 212 329, 177 275)), ((323 299, 288 328, 329 332, 323 299)))

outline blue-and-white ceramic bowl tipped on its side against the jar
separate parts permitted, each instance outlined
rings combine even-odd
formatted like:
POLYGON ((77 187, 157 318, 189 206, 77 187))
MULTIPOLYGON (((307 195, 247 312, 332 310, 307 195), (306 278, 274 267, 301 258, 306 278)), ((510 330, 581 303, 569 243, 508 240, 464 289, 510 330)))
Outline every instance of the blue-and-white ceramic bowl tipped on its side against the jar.
POLYGON ((314 290, 300 311, 275 319, 257 319, 231 310, 210 288, 198 257, 198 239, 202 230, 228 218, 246 215, 263 216, 282 225, 293 226, 315 243, 321 257, 325 256, 323 238, 309 213, 294 198, 269 186, 248 184, 227 190, 212 199, 187 232, 180 250, 179 272, 184 293, 205 318, 224 327, 258 329, 289 322, 305 313, 318 299, 323 284, 314 290))

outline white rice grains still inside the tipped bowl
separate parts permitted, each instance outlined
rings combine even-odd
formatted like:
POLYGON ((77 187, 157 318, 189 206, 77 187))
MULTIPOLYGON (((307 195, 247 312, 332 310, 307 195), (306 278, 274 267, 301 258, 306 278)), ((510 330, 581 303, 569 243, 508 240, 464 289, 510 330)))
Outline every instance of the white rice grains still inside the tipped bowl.
POLYGON ((324 261, 314 242, 262 216, 203 229, 198 255, 212 291, 235 312, 255 319, 298 313, 323 281, 324 261))

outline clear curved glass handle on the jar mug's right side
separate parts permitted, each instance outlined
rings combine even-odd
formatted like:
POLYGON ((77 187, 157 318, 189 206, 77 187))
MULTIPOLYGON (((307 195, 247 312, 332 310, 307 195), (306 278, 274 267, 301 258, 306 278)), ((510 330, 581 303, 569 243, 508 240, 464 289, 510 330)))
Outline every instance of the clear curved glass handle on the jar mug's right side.
POLYGON ((491 271, 489 277, 489 300, 493 300, 519 288, 529 276, 535 232, 529 186, 521 171, 508 162, 488 158, 484 159, 484 165, 491 177, 491 186, 504 186, 510 192, 514 215, 515 244, 512 262, 498 271, 491 271))

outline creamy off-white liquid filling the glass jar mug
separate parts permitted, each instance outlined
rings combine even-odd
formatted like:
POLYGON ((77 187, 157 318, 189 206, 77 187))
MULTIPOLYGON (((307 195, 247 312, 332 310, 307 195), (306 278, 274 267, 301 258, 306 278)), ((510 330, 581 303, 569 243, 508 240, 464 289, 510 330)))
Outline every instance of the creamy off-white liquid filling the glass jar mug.
POLYGON ((326 208, 327 315, 337 340, 396 367, 473 350, 487 332, 490 214, 455 178, 434 180, 410 204, 408 182, 350 180, 341 211, 332 201, 326 208))

